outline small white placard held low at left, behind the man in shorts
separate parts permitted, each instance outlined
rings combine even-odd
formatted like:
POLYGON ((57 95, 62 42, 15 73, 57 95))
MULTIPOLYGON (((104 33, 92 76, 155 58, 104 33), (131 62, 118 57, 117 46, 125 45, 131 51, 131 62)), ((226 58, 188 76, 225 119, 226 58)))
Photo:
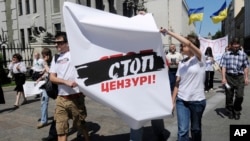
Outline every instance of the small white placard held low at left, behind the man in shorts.
POLYGON ((40 87, 45 83, 45 81, 39 81, 36 83, 36 81, 25 81, 23 84, 23 91, 25 97, 34 96, 37 94, 40 94, 42 90, 40 87))

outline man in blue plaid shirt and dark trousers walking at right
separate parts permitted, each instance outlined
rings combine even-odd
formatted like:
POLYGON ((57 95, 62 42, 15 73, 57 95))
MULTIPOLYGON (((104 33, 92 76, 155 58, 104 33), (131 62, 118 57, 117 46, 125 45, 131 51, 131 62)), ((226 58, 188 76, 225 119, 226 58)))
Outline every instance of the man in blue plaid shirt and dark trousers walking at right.
POLYGON ((240 50, 238 38, 231 42, 231 48, 221 58, 222 84, 225 85, 226 109, 229 119, 240 119, 244 86, 248 85, 248 56, 240 50), (235 98, 234 98, 235 97, 235 98))

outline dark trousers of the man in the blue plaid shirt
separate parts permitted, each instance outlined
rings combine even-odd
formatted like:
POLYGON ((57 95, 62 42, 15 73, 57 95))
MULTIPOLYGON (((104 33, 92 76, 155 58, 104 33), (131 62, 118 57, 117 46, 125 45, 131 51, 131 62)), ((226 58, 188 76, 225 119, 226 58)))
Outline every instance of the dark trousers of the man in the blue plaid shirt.
POLYGON ((244 76, 226 75, 227 83, 231 89, 226 89, 226 109, 235 114, 240 114, 242 110, 245 81, 244 76), (234 99, 235 97, 235 99, 234 99))

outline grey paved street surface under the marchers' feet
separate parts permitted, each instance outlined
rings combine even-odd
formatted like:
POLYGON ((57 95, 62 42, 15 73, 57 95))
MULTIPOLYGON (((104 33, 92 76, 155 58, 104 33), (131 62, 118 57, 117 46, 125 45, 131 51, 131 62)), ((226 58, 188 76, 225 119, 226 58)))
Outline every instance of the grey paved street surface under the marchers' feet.
MULTIPOLYGON (((224 109, 224 91, 220 76, 215 75, 215 90, 206 94, 207 107, 203 117, 203 141, 229 141, 229 126, 231 124, 250 124, 249 86, 245 89, 245 99, 241 119, 229 120, 224 109)), ((40 141, 46 137, 49 125, 37 129, 40 117, 40 100, 28 98, 28 103, 14 110, 15 92, 13 87, 5 87, 6 104, 0 105, 0 141, 40 141)), ((22 99, 21 99, 22 101, 22 99)), ((87 124, 90 128, 91 141, 128 141, 129 127, 110 108, 86 98, 88 110, 87 124)), ((54 101, 49 102, 49 117, 51 122, 54 111, 54 101)), ((168 141, 177 139, 176 116, 164 119, 166 128, 171 132, 168 141)), ((71 125, 72 123, 70 123, 71 125)), ((69 141, 76 141, 76 133, 69 136, 69 141)), ((145 125, 143 141, 154 141, 150 123, 145 125)))

